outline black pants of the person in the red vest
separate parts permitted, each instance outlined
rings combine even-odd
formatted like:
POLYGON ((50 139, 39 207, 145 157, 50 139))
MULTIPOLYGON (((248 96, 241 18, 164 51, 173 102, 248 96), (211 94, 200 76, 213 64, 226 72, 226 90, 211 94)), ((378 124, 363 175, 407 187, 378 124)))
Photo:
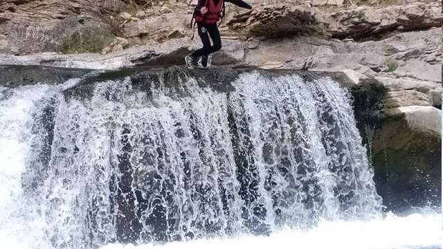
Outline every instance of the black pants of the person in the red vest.
POLYGON ((199 36, 201 38, 201 42, 203 43, 203 48, 200 48, 192 53, 192 57, 197 58, 202 55, 208 56, 211 53, 221 49, 221 38, 217 24, 197 23, 197 27, 199 28, 199 36), (209 36, 210 39, 213 40, 213 46, 210 46, 209 36))

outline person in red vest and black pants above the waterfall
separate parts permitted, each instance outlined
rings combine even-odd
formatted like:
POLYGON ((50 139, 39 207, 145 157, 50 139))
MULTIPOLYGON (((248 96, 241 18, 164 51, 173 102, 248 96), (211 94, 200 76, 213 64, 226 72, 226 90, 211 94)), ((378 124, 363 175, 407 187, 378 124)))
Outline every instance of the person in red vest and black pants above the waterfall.
POLYGON ((252 9, 252 6, 242 0, 199 0, 194 9, 192 19, 195 19, 197 23, 203 48, 195 50, 194 53, 185 57, 188 68, 199 66, 199 57, 201 57, 201 66, 199 67, 206 68, 208 66, 208 56, 221 49, 221 38, 217 22, 224 16, 224 2, 234 3, 241 8, 249 10, 252 9), (213 40, 213 46, 210 45, 209 36, 213 40))

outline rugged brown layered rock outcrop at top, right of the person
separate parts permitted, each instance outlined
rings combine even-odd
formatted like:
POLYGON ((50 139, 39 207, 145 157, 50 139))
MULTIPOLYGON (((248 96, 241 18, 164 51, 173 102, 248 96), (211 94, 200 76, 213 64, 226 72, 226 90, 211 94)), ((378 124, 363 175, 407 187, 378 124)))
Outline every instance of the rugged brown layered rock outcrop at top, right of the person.
POLYGON ((244 30, 246 35, 262 38, 318 33, 339 39, 374 39, 394 31, 440 27, 443 21, 440 6, 439 3, 410 3, 387 8, 359 6, 325 11, 278 4, 233 15, 227 25, 233 30, 244 30))

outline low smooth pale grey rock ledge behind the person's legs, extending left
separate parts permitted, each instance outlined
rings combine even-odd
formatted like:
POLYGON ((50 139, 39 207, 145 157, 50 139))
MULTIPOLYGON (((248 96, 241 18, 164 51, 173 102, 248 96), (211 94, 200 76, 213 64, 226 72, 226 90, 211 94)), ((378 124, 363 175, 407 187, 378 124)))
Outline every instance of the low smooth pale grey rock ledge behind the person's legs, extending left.
MULTIPOLYGON (((213 56, 213 63, 217 65, 239 64, 244 58, 242 44, 225 41, 224 50, 213 56)), ((0 64, 12 65, 42 65, 69 68, 117 69, 127 66, 153 65, 183 65, 184 57, 192 49, 199 48, 197 41, 188 43, 187 39, 172 39, 162 44, 140 46, 118 50, 106 55, 78 54, 60 55, 57 53, 42 53, 39 55, 2 55, 0 64)))

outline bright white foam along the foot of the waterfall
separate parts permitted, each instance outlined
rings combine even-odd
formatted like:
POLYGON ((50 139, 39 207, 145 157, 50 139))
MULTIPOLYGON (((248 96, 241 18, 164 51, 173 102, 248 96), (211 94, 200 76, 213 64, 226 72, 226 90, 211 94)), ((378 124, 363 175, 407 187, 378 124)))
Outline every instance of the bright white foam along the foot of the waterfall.
POLYGON ((199 239, 165 245, 141 246, 111 244, 101 249, 199 249, 199 248, 340 248, 406 249, 440 248, 440 214, 388 215, 371 221, 324 221, 308 231, 282 230, 269 237, 246 236, 235 239, 199 239))

